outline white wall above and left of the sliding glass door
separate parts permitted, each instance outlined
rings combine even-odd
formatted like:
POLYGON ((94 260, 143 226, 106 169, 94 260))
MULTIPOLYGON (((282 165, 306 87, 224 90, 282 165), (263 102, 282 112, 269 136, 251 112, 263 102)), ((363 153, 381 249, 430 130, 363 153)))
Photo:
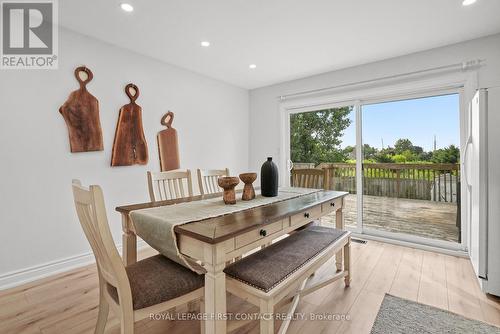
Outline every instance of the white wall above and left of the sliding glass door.
MULTIPOLYGON (((360 52, 362 52, 362 48, 360 52)), ((480 86, 499 86, 500 34, 254 89, 250 91, 250 168, 259 168, 267 156, 273 156, 273 160, 276 162, 280 161, 281 134, 278 96, 409 73, 473 59, 486 60, 487 65, 482 67, 479 73, 480 86)), ((490 110, 490 113, 493 112, 499 111, 490 110)), ((489 127, 495 136, 493 139, 500 141, 500 132, 497 130, 500 124, 490 122, 489 127)), ((500 180, 498 181, 500 182, 500 180)))

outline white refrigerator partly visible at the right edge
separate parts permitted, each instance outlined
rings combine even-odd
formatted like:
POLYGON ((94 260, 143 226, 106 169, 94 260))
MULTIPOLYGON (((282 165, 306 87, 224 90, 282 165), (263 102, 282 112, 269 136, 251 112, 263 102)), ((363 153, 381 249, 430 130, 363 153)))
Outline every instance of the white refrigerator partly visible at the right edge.
POLYGON ((500 129, 494 124, 500 124, 500 88, 480 89, 469 103, 462 155, 467 248, 481 289, 500 296, 500 129))

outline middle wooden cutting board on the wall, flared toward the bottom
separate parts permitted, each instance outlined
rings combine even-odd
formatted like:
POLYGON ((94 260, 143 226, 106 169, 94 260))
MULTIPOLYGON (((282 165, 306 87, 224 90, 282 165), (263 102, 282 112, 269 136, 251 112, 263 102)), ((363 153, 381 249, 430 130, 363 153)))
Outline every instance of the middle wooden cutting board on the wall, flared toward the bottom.
POLYGON ((130 103, 121 107, 118 115, 111 166, 145 165, 148 163, 148 144, 142 127, 142 108, 135 103, 139 88, 128 84, 125 94, 130 103))

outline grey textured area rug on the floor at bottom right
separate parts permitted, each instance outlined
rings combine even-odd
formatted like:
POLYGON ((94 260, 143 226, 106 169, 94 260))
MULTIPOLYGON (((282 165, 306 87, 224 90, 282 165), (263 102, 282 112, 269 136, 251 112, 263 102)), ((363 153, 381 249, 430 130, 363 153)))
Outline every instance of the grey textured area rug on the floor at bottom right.
POLYGON ((500 333, 500 328, 386 294, 372 334, 500 333))

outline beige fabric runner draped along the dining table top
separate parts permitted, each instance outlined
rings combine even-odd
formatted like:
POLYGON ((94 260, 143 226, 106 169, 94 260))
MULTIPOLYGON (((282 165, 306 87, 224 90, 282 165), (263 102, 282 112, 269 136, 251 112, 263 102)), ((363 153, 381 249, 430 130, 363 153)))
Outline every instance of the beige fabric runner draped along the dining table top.
POLYGON ((286 187, 280 188, 276 197, 264 197, 257 193, 254 200, 239 200, 233 205, 224 204, 221 195, 220 198, 135 210, 130 213, 130 218, 134 224, 136 234, 148 245, 170 260, 200 274, 204 272, 203 268, 189 261, 179 252, 174 232, 176 225, 253 209, 318 191, 318 189, 286 187))

